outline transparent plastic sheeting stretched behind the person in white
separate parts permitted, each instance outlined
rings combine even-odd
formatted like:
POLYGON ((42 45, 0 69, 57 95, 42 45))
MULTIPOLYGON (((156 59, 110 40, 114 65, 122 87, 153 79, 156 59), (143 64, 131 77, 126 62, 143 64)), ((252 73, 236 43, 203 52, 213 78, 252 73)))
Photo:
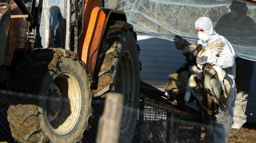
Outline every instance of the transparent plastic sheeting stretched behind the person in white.
POLYGON ((198 40, 194 23, 209 17, 215 31, 228 39, 236 56, 256 61, 256 6, 232 0, 105 0, 105 6, 126 13, 138 34, 173 41, 198 40), (248 9, 247 9, 248 8, 248 9))

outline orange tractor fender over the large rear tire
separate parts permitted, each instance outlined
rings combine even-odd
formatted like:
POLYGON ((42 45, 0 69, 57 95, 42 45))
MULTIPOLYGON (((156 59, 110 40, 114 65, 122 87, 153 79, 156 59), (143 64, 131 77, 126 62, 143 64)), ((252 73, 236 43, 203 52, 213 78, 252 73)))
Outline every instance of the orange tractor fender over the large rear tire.
POLYGON ((93 77, 101 40, 108 20, 125 21, 126 15, 117 9, 95 7, 90 15, 86 36, 79 41, 78 55, 86 63, 86 71, 93 77), (81 47, 82 46, 82 47, 81 47))

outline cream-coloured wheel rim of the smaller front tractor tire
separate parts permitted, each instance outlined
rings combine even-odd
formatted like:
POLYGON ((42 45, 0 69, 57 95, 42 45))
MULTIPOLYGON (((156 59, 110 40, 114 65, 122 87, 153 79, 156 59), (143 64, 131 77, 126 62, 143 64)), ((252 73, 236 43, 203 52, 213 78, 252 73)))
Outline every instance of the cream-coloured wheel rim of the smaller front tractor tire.
POLYGON ((62 73, 51 83, 46 100, 46 115, 53 131, 65 134, 76 124, 81 108, 81 92, 76 78, 62 73))

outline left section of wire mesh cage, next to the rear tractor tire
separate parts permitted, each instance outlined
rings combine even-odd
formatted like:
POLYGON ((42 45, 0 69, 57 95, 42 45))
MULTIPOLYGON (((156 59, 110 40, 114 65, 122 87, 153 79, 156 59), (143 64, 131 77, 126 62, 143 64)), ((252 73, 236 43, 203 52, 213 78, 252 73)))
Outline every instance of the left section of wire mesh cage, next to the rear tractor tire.
POLYGON ((141 98, 133 143, 169 143, 172 106, 141 98))

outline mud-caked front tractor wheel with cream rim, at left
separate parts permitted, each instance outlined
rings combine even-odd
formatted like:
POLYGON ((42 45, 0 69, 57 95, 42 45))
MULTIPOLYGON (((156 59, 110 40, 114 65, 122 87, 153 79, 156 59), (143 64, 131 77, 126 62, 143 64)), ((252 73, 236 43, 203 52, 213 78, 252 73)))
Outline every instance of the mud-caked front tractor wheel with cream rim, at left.
POLYGON ((85 64, 64 49, 35 49, 16 67, 21 97, 7 111, 18 142, 80 142, 88 129, 91 91, 85 64))

